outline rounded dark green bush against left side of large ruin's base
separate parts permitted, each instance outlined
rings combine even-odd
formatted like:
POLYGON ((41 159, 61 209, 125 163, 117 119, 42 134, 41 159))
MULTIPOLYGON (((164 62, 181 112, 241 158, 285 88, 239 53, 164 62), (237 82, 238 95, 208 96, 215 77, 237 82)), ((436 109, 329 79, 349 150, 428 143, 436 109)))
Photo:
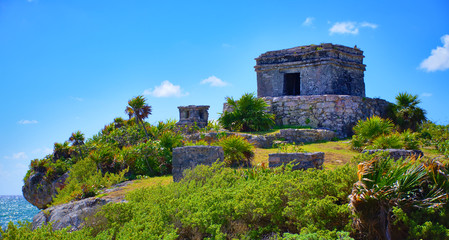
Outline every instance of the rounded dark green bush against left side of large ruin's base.
POLYGON ((253 93, 245 93, 239 100, 227 98, 227 103, 232 109, 223 112, 218 122, 232 131, 263 131, 274 126, 274 114, 266 112, 268 104, 253 93))

